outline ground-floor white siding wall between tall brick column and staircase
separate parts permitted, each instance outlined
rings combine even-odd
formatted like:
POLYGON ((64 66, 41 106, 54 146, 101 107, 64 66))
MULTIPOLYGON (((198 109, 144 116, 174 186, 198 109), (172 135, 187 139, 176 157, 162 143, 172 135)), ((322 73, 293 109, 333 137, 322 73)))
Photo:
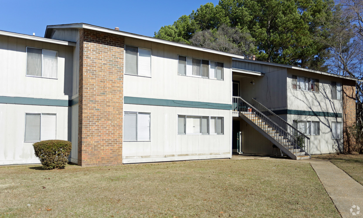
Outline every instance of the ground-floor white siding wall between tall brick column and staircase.
POLYGON ((151 141, 124 141, 123 163, 232 157, 231 110, 125 104, 124 111, 150 113, 151 141), (224 134, 178 135, 178 114, 224 117, 224 134))

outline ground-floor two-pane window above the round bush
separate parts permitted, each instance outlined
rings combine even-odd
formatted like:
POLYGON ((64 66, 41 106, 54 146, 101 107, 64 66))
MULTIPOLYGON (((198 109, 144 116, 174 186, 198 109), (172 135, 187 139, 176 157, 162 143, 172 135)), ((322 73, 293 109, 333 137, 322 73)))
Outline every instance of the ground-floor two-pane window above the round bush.
POLYGON ((24 142, 56 139, 57 115, 51 113, 25 113, 24 142))

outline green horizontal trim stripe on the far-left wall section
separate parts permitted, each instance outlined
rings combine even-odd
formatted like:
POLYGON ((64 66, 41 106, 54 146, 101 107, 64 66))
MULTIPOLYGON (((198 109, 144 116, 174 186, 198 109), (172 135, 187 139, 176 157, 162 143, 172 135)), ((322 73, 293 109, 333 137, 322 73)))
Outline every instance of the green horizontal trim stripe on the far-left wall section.
POLYGON ((69 105, 68 100, 47 99, 47 98, 28 98, 28 97, 8 97, 8 96, 0 96, 0 103, 63 106, 63 107, 68 107, 68 105, 69 105))

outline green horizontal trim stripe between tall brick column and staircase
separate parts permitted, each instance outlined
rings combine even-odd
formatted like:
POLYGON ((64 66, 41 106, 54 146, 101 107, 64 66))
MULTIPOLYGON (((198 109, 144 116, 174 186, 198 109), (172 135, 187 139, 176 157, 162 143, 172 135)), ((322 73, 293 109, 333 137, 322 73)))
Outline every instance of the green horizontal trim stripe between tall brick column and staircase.
POLYGON ((219 104, 219 103, 200 102, 200 101, 180 101, 180 100, 139 98, 139 97, 124 97, 123 101, 125 104, 232 110, 231 104, 219 104))

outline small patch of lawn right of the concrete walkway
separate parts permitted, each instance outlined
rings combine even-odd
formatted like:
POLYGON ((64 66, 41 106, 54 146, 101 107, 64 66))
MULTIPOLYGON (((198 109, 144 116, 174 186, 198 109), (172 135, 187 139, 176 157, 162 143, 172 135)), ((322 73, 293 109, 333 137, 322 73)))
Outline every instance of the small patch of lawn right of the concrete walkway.
POLYGON ((320 154, 311 157, 329 160, 363 185, 363 154, 320 154))

